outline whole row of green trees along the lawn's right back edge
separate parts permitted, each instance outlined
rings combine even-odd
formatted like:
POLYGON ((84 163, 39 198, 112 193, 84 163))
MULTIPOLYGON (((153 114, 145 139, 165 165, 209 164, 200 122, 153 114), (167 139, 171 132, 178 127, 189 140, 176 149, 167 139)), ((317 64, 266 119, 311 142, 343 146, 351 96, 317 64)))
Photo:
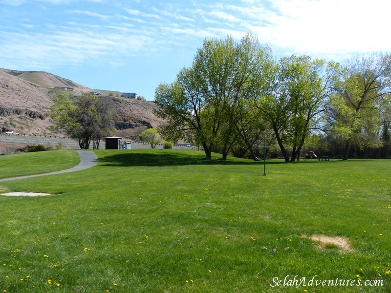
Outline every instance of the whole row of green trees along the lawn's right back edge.
POLYGON ((257 160, 266 137, 295 161, 306 140, 319 136, 342 140, 348 159, 351 147, 390 142, 390 77, 387 54, 344 65, 295 55, 276 61, 247 33, 240 42, 205 40, 190 67, 158 85, 155 114, 167 121, 165 139, 201 144, 207 159, 218 150, 223 159, 248 151, 257 160))

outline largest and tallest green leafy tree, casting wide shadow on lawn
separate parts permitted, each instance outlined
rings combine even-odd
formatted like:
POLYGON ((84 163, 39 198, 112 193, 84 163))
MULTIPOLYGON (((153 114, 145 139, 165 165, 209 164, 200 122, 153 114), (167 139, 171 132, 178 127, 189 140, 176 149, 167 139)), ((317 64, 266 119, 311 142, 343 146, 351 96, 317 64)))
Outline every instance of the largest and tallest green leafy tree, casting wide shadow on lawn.
POLYGON ((172 84, 159 84, 156 114, 167 120, 161 132, 168 139, 188 139, 202 144, 207 159, 218 144, 223 157, 238 135, 242 99, 254 93, 263 49, 251 34, 236 43, 205 40, 190 68, 183 68, 172 84))

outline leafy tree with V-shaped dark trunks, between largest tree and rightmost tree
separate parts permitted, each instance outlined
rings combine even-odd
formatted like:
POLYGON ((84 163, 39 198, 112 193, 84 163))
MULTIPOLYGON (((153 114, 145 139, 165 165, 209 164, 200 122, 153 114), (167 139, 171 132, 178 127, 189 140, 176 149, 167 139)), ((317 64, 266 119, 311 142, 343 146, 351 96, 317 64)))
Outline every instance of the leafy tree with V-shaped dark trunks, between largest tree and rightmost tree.
POLYGON ((271 91, 260 95, 258 107, 273 129, 286 162, 300 152, 314 121, 326 110, 335 65, 308 56, 284 57, 277 64, 271 91), (289 159, 287 148, 292 149, 289 159))

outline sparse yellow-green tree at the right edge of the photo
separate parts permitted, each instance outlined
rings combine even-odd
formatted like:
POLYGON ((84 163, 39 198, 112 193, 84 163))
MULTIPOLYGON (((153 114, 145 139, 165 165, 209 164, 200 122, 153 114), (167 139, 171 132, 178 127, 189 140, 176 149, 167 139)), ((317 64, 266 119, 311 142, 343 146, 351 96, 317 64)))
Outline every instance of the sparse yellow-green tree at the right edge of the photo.
POLYGON ((391 93, 391 56, 352 59, 341 71, 336 90, 329 116, 335 133, 346 140, 343 159, 348 159, 352 145, 380 147, 379 104, 391 93))

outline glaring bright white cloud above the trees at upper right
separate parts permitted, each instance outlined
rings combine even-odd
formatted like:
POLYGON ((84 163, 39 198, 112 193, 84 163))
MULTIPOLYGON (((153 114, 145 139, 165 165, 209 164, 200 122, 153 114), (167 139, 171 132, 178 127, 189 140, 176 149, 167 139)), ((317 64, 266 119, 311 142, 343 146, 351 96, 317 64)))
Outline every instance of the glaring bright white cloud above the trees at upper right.
POLYGON ((270 26, 253 27, 272 46, 320 54, 390 50, 384 37, 390 27, 387 5, 373 0, 360 5, 352 0, 274 0, 277 13, 270 26), (383 8, 383 9, 382 9, 383 8))

